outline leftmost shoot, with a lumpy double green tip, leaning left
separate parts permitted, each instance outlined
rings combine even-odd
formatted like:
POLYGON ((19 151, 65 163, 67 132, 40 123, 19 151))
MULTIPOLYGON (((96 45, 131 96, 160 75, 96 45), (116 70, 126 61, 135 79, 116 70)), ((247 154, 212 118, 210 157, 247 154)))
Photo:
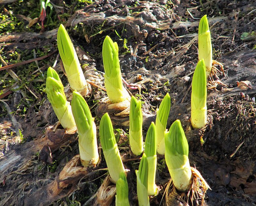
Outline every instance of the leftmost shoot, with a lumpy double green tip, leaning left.
POLYGON ((47 70, 46 93, 60 124, 65 129, 76 126, 70 103, 64 93, 64 87, 57 72, 49 67, 47 70))

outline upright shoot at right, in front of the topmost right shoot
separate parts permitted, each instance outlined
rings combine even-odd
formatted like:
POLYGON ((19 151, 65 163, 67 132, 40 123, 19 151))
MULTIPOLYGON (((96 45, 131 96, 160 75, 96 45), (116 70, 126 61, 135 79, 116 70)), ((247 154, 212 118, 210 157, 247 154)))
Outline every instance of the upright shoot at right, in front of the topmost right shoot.
POLYGON ((191 124, 195 129, 202 128, 207 122, 206 106, 206 74, 204 59, 197 65, 192 79, 191 92, 191 124))

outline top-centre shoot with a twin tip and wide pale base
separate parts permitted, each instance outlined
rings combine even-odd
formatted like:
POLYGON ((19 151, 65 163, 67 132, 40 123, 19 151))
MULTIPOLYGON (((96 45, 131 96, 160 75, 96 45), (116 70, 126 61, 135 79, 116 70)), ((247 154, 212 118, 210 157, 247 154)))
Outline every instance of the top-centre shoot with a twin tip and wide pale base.
POLYGON ((130 95, 123 86, 118 46, 109 36, 106 36, 102 47, 103 64, 105 70, 105 88, 112 103, 130 100, 130 95))

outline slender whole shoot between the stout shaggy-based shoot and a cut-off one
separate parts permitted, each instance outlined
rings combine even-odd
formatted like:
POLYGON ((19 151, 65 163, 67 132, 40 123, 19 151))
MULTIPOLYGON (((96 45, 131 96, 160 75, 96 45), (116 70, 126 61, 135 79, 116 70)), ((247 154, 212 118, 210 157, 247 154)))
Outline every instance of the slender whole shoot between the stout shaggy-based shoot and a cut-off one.
POLYGON ((148 159, 148 195, 153 196, 157 194, 156 179, 156 126, 154 122, 148 128, 145 140, 145 154, 148 159))

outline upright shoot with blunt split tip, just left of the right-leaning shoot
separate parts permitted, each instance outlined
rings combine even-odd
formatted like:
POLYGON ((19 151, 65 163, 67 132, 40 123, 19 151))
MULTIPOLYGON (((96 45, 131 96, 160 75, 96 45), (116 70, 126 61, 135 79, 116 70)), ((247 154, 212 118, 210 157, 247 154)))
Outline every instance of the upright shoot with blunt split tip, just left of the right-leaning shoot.
POLYGON ((135 155, 140 155, 143 152, 142 121, 141 102, 132 96, 129 137, 131 150, 135 155))

